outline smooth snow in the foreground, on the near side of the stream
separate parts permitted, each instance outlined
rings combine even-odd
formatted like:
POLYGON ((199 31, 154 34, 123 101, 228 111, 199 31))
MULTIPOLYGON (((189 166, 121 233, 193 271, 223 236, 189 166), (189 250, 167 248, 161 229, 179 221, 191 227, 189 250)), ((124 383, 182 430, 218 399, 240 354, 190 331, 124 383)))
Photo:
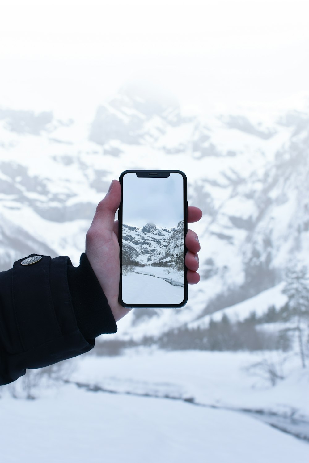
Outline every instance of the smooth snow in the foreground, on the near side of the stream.
POLYGON ((0 400, 3 463, 307 463, 309 445, 257 420, 166 399, 86 392, 0 400))

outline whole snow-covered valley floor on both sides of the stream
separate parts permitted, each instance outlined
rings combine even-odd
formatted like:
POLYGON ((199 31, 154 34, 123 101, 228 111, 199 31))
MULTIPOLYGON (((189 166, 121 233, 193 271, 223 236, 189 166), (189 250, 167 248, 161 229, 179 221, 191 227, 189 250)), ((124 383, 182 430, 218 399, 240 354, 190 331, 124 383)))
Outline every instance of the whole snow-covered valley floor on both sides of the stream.
MULTIPOLYGON (((309 418, 299 359, 281 365, 286 378, 271 387, 247 370, 262 358, 146 348, 78 357, 72 383, 41 385, 37 400, 0 390, 1 462, 307 463, 307 442, 239 411, 309 418)), ((272 360, 279 365, 279 354, 272 360)))

